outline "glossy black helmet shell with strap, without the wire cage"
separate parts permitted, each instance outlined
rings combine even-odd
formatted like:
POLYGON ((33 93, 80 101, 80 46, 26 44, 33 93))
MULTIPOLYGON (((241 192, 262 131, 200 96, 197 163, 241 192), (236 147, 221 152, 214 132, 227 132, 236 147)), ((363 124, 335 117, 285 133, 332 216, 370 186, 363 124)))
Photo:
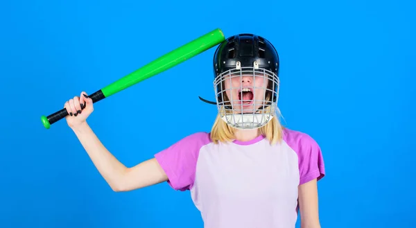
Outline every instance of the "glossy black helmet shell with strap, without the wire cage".
MULTIPOLYGON (((250 33, 242 33, 233 35, 223 41, 214 53, 214 78, 218 78, 223 73, 239 67, 258 67, 258 69, 274 73, 275 77, 279 77, 279 55, 275 47, 265 38, 250 33), (253 65, 255 63, 255 66, 253 65)), ((221 83, 216 85, 216 91, 221 91, 221 83)), ((278 83, 272 88, 272 102, 277 97, 278 83)), ((200 100, 206 103, 217 105, 216 102, 200 100)), ((220 94, 217 94, 217 101, 222 101, 220 94)))

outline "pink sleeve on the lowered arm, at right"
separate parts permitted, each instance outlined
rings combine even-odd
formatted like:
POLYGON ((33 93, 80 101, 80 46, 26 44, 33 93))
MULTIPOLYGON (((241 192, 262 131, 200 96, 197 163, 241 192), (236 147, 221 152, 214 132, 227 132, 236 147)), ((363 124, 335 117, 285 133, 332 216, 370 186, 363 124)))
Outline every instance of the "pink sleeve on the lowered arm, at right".
POLYGON ((286 143, 295 150, 298 157, 300 183, 322 179, 325 175, 324 159, 318 143, 308 134, 286 130, 286 143))

